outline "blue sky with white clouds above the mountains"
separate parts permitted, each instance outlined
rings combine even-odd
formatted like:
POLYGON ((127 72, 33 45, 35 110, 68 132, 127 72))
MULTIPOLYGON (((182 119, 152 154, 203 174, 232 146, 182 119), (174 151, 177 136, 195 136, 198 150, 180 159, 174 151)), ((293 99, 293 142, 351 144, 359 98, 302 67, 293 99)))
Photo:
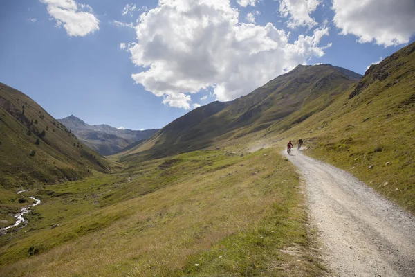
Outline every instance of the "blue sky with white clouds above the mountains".
POLYGON ((414 0, 0 0, 0 82, 55 118, 161 128, 298 64, 364 74, 415 40, 414 0))

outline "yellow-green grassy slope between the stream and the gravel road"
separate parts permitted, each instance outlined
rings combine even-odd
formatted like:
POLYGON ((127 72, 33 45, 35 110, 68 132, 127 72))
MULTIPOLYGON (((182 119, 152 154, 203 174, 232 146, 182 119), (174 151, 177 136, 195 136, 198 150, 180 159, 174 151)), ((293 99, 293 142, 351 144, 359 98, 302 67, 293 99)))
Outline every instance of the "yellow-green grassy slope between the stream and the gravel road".
POLYGON ((275 150, 190 152, 29 194, 44 204, 0 237, 2 276, 323 271, 299 176, 275 150))

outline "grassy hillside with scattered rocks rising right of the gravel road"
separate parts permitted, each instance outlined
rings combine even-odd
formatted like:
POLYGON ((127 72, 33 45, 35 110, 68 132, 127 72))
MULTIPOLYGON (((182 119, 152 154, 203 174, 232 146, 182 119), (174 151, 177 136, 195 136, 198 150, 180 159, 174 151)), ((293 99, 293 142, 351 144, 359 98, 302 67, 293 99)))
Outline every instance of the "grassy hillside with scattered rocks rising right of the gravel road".
POLYGON ((270 127, 268 136, 291 127, 278 137, 302 137, 307 154, 351 172, 415 213, 415 44, 372 65, 324 111, 297 125, 296 118, 270 127))

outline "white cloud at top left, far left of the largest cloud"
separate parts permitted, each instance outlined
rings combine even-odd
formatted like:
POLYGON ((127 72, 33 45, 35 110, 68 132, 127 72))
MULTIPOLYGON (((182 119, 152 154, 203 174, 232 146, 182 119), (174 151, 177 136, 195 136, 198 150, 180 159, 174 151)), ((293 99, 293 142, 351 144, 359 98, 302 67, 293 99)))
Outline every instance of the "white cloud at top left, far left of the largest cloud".
POLYGON ((100 30, 100 21, 92 14, 92 8, 86 4, 78 4, 74 0, 40 1, 46 4, 48 13, 56 20, 57 26, 63 25, 71 37, 84 37, 100 30))

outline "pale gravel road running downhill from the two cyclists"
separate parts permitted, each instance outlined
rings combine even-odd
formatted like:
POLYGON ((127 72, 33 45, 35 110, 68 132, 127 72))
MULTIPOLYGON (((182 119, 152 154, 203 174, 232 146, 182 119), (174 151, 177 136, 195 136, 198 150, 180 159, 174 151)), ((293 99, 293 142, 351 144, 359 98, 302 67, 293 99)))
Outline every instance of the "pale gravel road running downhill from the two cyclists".
MULTIPOLYGON (((286 153, 284 153, 286 155, 286 153)), ((415 217, 353 175, 293 150, 334 276, 415 276, 415 217)))

